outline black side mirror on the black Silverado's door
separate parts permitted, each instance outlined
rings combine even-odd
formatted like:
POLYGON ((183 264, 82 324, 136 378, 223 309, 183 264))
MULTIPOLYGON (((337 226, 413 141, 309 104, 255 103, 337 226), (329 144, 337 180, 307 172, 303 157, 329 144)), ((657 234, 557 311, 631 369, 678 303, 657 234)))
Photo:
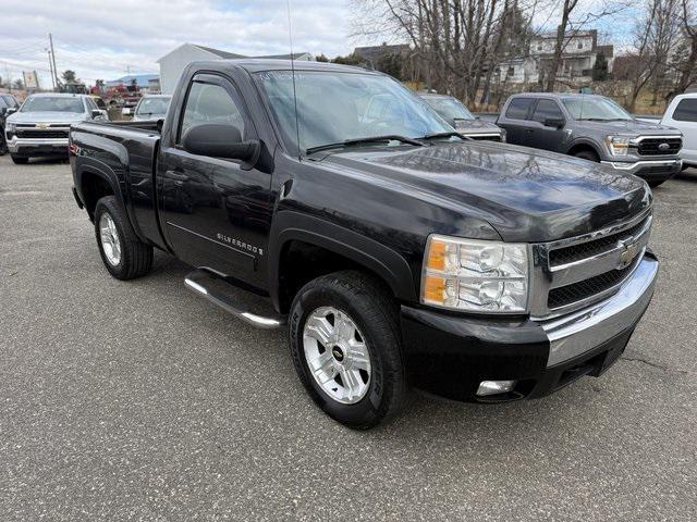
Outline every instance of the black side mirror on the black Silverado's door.
POLYGON ((259 157, 259 141, 242 141, 242 134, 234 125, 204 123, 188 128, 182 138, 186 152, 211 158, 227 158, 255 163, 259 157))

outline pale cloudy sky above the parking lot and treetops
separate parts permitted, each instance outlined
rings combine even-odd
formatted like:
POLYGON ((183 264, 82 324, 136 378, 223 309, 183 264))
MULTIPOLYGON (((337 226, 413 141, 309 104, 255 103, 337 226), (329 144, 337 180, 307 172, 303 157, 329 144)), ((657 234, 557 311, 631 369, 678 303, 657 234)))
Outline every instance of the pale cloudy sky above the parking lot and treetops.
MULTIPOLYGON (((335 57, 379 42, 351 36, 351 0, 2 0, 0 76, 36 71, 50 88, 49 33, 59 73, 73 70, 87 84, 157 73, 157 59, 186 41, 246 55, 288 53, 286 1, 296 52, 335 57)), ((582 4, 590 10, 601 1, 582 4)), ((558 18, 549 13, 539 16, 553 29, 558 18)), ((599 25, 613 33, 629 26, 616 16, 599 25)))

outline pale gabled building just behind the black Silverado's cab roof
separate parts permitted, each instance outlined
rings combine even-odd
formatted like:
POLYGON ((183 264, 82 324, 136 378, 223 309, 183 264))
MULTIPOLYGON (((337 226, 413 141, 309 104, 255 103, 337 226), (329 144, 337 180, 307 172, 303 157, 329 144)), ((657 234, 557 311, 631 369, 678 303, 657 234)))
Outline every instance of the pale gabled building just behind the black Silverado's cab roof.
MULTIPOLYGON (((276 54, 266 57, 245 57, 234 52, 221 51, 210 47, 198 46, 196 44, 182 44, 176 49, 160 58, 160 88, 162 94, 171 95, 176 86, 180 75, 191 62, 196 60, 234 60, 240 58, 266 58, 269 60, 290 60, 291 54, 276 54)), ((309 52, 296 52, 294 60, 313 61, 315 58, 309 52)))

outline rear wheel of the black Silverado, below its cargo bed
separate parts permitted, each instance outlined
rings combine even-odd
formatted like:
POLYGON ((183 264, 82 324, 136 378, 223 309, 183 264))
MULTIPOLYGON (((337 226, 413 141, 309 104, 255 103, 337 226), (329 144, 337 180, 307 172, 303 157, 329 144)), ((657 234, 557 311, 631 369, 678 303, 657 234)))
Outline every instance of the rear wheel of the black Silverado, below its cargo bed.
POLYGON ((142 277, 152 268, 152 247, 137 238, 113 196, 97 201, 95 236, 101 260, 117 279, 142 277))

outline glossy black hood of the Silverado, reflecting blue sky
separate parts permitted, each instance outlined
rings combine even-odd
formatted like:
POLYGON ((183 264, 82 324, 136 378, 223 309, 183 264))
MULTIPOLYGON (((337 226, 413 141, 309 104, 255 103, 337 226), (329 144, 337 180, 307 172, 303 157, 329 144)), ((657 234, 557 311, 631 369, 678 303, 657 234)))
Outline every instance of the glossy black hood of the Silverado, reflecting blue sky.
MULTIPOLYGON (((621 223, 651 204, 648 185, 586 160, 493 141, 329 154, 323 162, 460 206, 506 241, 572 237, 621 223)), ((329 165, 328 165, 329 166, 329 165)))

